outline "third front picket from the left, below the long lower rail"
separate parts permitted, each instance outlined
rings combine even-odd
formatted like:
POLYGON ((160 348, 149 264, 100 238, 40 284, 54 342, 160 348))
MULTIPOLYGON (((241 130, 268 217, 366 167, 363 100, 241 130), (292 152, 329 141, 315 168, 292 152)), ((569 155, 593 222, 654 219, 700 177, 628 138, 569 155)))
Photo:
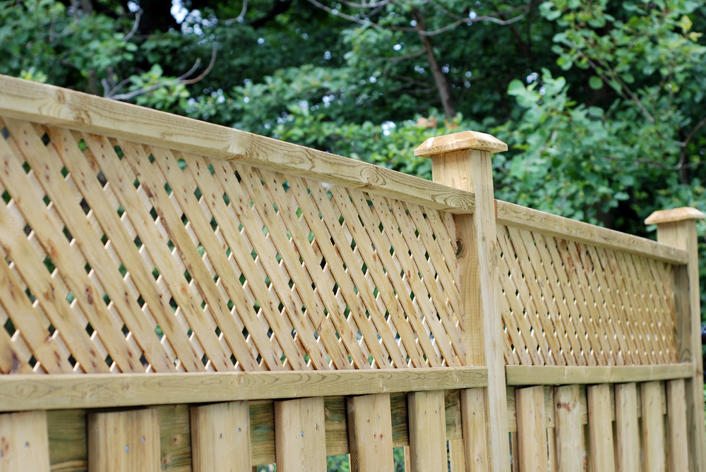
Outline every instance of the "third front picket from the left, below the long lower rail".
POLYGON ((252 472, 247 401, 191 407, 193 472, 252 472))

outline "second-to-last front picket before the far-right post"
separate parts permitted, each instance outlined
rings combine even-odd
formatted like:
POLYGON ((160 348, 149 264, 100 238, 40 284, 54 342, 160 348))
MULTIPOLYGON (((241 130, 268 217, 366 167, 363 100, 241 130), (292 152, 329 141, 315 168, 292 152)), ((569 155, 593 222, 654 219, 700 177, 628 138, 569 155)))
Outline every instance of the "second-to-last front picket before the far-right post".
POLYGON ((642 392, 642 454, 645 472, 664 472, 664 416, 659 382, 640 384, 642 392))

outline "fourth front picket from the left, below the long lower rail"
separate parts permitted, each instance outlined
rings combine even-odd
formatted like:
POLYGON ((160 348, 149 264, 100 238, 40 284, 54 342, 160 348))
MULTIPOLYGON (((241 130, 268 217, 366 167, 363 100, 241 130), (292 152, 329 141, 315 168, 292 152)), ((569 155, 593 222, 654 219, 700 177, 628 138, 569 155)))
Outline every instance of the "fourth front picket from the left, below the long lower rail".
POLYGON ((326 472, 323 398, 275 401, 277 471, 326 472))

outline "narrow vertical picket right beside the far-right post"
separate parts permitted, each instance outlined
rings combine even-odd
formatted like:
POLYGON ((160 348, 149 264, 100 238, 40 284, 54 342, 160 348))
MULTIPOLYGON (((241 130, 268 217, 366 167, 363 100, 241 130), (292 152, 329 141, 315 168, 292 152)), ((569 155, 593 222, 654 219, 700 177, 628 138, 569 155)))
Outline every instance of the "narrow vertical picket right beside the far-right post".
POLYGON ((689 446, 686 426, 686 388, 684 380, 666 383, 666 414, 669 427, 667 436, 669 470, 689 470, 689 446))

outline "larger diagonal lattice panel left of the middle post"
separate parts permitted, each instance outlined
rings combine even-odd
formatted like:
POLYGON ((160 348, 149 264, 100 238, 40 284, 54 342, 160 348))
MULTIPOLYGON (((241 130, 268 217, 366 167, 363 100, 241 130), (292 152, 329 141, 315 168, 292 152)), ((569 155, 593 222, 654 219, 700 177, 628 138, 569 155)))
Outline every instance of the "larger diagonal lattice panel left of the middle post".
POLYGON ((453 219, 3 119, 0 372, 462 365, 453 219))

